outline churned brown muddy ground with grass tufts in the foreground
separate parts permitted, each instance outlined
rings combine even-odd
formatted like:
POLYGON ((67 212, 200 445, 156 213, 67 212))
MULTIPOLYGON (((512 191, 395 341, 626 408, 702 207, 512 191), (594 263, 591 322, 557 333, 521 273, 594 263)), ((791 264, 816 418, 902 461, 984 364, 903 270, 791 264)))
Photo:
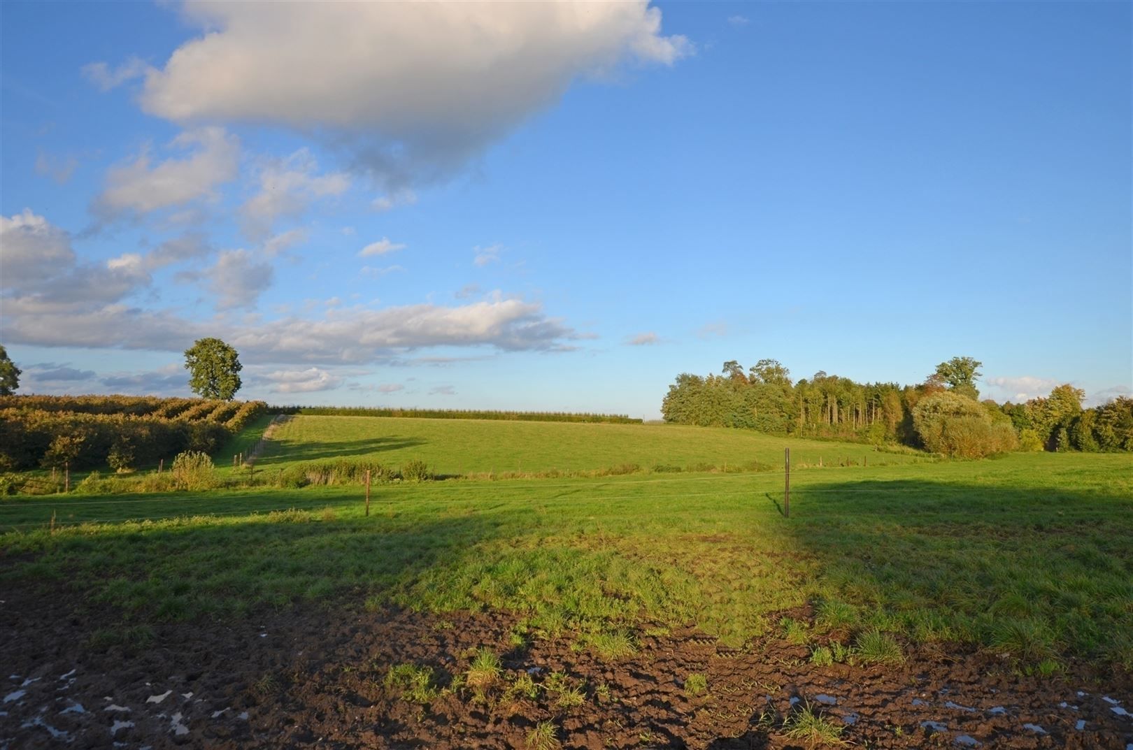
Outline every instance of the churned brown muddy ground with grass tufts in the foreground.
POLYGON ((769 638, 730 649, 691 628, 642 630, 634 656, 603 662, 569 638, 516 647, 516 620, 500 614, 323 605, 147 631, 66 591, 0 599, 0 750, 503 749, 528 747, 540 722, 568 749, 804 748, 783 722, 806 705, 858 748, 1133 750, 1133 680, 1077 663, 1026 677, 994 654, 921 649, 898 666, 816 667, 806 647, 769 638), (452 690, 482 647, 502 655, 497 684, 452 690), (433 667, 442 690, 427 704, 386 687, 404 663, 433 667), (509 691, 525 673, 585 699, 509 691), (704 694, 685 691, 696 673, 704 694))

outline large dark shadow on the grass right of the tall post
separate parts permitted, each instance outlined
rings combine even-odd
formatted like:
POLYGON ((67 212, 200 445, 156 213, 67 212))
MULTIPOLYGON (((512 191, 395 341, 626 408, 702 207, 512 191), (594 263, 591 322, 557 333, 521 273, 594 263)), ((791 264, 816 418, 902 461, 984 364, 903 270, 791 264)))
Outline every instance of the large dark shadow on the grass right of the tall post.
POLYGON ((1133 664, 1133 502, 1115 489, 799 486, 783 523, 844 629, 1133 664))

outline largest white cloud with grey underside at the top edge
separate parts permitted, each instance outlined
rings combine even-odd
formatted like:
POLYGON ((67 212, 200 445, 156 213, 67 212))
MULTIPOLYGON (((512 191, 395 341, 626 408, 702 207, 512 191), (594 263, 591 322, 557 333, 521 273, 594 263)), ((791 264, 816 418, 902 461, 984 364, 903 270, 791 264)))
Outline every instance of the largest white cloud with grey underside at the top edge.
MULTIPOLYGON (((182 11, 207 33, 146 74, 146 111, 322 129, 391 181, 459 167, 579 76, 691 52, 683 36, 661 34, 647 0, 203 0, 182 11)), ((105 66, 88 75, 121 77, 105 66)))

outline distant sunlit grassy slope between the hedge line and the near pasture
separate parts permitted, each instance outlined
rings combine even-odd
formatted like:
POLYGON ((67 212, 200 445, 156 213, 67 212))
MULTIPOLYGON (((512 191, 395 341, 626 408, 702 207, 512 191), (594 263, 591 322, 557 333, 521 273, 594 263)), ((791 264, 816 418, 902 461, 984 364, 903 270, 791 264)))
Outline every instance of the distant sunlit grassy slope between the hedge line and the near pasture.
POLYGON ((868 445, 790 440, 759 433, 676 425, 512 423, 475 419, 299 416, 274 435, 263 468, 326 458, 368 458, 387 466, 425 460, 435 472, 465 475, 551 469, 606 469, 636 463, 680 468, 782 466, 790 446, 794 466, 926 460, 923 454, 875 453, 868 445))

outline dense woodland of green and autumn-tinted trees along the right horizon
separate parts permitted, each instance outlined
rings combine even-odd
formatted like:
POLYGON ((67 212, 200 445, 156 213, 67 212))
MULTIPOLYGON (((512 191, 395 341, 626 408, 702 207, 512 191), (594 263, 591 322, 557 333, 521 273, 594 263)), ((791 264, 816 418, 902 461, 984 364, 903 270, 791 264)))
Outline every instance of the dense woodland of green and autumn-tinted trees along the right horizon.
POLYGON ((987 442, 991 450, 974 451, 977 454, 1016 449, 1133 451, 1133 399, 1122 397, 1083 409, 1085 393, 1059 385, 1048 397, 1025 403, 979 401, 974 387, 979 366, 974 359, 956 357, 942 363, 923 383, 898 385, 855 383, 825 372, 794 382, 777 360, 763 359, 748 370, 731 360, 724 363, 719 375, 679 375, 662 402, 662 416, 682 425, 743 427, 876 445, 902 443, 929 450, 939 448, 929 434, 934 429, 944 432, 937 440, 952 435, 954 442, 962 440, 964 431, 978 431, 979 435, 964 435, 963 440, 987 442), (934 414, 944 415, 947 424, 934 423, 934 414), (1008 426, 1012 436, 1005 429, 1008 426))

